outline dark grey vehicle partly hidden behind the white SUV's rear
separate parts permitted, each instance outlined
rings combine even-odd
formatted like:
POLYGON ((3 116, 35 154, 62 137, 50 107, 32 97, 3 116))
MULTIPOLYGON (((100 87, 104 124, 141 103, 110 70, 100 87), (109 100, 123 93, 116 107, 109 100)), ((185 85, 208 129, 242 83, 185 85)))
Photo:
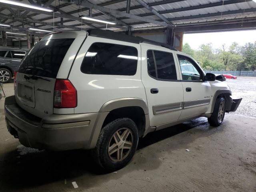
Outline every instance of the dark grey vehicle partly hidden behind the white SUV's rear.
POLYGON ((26 48, 0 46, 0 82, 8 83, 18 70, 20 61, 28 52, 26 48))

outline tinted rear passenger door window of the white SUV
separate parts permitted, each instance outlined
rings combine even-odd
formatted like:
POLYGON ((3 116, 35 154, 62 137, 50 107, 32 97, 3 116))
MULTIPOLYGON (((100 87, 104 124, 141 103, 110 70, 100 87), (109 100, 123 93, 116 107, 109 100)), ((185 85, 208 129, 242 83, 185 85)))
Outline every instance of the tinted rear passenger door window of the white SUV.
POLYGON ((147 60, 155 62, 155 65, 148 62, 148 74, 157 80, 177 80, 174 57, 172 53, 148 50, 147 60), (156 70, 154 69, 156 67, 156 70), (154 72, 156 71, 155 75, 154 72))

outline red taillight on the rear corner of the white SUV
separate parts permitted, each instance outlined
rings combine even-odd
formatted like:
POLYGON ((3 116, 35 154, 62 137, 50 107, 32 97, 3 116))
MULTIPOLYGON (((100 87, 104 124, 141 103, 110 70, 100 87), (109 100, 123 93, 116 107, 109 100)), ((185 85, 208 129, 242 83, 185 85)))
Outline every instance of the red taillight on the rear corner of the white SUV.
POLYGON ((56 79, 54 87, 54 108, 75 108, 77 106, 76 88, 67 79, 56 79))

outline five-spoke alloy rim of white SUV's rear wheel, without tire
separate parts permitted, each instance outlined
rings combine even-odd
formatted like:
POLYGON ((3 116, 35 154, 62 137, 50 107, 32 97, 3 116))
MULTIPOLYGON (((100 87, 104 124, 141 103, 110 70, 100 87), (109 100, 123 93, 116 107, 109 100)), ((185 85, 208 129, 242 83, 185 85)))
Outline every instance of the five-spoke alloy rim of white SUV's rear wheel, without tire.
POLYGON ((131 151, 133 144, 132 132, 128 128, 117 130, 108 144, 108 156, 114 162, 124 160, 131 151))

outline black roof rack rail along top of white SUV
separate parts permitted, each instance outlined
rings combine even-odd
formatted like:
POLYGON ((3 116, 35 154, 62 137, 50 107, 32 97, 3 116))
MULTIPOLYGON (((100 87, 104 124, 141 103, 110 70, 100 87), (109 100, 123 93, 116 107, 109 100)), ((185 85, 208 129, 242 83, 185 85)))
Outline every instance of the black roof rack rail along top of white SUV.
POLYGON ((164 43, 160 43, 160 42, 156 42, 156 41, 152 41, 152 40, 147 40, 142 37, 124 35, 124 34, 116 33, 114 31, 110 31, 110 30, 89 29, 89 30, 87 30, 87 32, 90 36, 94 36, 94 37, 107 38, 107 39, 125 41, 125 42, 136 43, 136 44, 140 44, 140 43, 144 42, 144 43, 158 45, 158 46, 168 48, 170 50, 177 51, 174 47, 172 47, 168 44, 164 44, 164 43))

